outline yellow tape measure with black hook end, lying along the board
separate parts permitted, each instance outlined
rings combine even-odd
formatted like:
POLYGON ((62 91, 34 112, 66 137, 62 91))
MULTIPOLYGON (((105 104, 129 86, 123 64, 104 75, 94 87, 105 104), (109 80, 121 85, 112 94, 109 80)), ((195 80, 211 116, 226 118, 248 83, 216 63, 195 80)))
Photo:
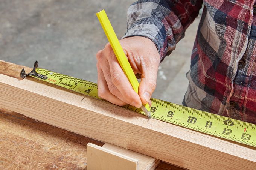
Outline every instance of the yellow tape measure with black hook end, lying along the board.
MULTIPOLYGON (((101 99, 98 96, 98 86, 96 83, 38 68, 38 62, 35 62, 34 69, 29 74, 26 74, 24 69, 21 71, 21 77, 24 78, 26 75, 101 99)), ((160 99, 151 98, 151 101, 151 119, 162 120, 184 128, 256 147, 256 125, 252 123, 196 110, 160 99)), ((130 105, 123 106, 123 108, 145 115, 140 108, 130 105)))

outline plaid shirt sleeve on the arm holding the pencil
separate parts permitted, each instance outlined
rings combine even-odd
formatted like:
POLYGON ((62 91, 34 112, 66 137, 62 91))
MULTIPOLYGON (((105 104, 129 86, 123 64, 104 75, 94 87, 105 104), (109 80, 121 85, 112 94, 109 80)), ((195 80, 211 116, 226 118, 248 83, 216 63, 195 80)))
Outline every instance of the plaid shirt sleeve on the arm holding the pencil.
POLYGON ((128 30, 122 38, 143 36, 151 39, 162 61, 184 37, 202 3, 202 0, 139 0, 128 9, 128 30))

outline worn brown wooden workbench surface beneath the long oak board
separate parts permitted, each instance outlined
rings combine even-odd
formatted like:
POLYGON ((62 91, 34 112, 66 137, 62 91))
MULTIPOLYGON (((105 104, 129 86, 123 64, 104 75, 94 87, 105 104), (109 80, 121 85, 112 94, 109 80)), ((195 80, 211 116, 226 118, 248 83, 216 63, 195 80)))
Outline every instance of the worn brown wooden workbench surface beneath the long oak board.
MULTIPOLYGON (((31 71, 0 61, 0 74, 18 78, 22 68, 31 71)), ((104 144, 0 108, 0 169, 87 169, 88 142, 104 144)), ((164 162, 156 168, 180 169, 164 162)))

